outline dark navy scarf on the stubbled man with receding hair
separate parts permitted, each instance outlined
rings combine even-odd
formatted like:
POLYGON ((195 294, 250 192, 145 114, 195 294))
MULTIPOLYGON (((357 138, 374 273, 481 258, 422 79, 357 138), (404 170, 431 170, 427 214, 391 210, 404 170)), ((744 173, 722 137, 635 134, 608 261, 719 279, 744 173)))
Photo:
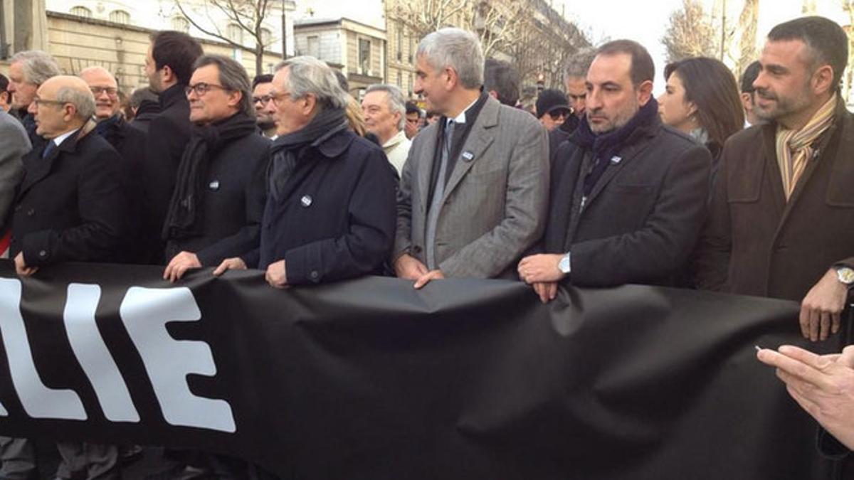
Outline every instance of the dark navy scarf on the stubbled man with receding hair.
POLYGON ((602 173, 605 173, 605 169, 611 164, 611 157, 617 155, 617 152, 626 143, 630 143, 635 130, 640 126, 647 126, 657 119, 658 102, 656 102, 655 98, 650 98, 649 102, 646 102, 646 105, 640 107, 638 113, 626 125, 600 135, 590 130, 587 115, 584 116, 578 128, 576 128, 576 132, 570 138, 572 143, 576 143, 576 145, 584 149, 590 149, 593 152, 594 166, 584 178, 584 196, 590 195, 602 173))

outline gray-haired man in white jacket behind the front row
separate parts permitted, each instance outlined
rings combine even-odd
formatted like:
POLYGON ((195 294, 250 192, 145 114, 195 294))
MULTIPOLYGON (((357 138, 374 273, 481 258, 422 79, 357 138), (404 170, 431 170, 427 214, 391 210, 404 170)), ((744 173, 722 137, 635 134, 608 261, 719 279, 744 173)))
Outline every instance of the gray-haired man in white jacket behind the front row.
POLYGON ((371 85, 362 97, 362 115, 368 132, 377 136, 385 156, 400 174, 412 142, 404 132, 407 101, 395 85, 371 85))

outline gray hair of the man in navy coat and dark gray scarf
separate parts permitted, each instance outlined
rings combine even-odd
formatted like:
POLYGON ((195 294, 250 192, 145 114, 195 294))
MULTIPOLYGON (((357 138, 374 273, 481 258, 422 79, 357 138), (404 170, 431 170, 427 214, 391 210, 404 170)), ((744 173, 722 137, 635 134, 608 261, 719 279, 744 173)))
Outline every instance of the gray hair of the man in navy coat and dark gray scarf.
POLYGON ((287 85, 282 85, 290 92, 291 98, 304 98, 308 94, 318 100, 321 108, 347 108, 348 94, 343 91, 335 73, 313 56, 295 56, 280 62, 276 66, 278 72, 288 69, 287 85))

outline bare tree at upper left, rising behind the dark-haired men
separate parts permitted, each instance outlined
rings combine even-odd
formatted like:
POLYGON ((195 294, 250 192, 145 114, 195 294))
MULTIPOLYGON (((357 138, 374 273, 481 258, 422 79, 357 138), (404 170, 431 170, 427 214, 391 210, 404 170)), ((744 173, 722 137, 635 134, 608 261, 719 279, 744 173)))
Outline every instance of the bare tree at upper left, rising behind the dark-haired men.
POLYGON ((264 50, 269 44, 272 44, 273 38, 272 36, 267 37, 263 22, 266 16, 270 14, 273 0, 204 0, 202 3, 203 11, 188 9, 187 0, 174 1, 178 10, 181 11, 181 15, 184 15, 184 18, 190 21, 193 26, 211 37, 219 38, 225 43, 231 44, 234 48, 248 49, 249 47, 231 38, 226 34, 227 32, 223 33, 217 22, 211 17, 209 8, 225 15, 230 25, 236 25, 242 32, 249 33, 249 37, 254 43, 251 50, 254 50, 255 54, 255 75, 264 73, 264 50), (202 16, 208 19, 210 26, 206 26, 200 20, 202 16))

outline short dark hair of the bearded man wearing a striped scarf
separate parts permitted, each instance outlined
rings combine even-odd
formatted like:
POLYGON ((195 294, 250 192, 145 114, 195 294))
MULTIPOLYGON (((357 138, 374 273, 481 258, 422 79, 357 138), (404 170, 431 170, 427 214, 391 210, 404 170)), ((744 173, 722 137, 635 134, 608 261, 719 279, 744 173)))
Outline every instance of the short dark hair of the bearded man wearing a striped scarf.
POLYGON ((848 63, 848 37, 838 23, 820 16, 801 17, 775 26, 769 32, 768 39, 771 42, 804 42, 814 53, 813 71, 823 65, 830 65, 834 69, 834 85, 839 88, 839 80, 848 63))

